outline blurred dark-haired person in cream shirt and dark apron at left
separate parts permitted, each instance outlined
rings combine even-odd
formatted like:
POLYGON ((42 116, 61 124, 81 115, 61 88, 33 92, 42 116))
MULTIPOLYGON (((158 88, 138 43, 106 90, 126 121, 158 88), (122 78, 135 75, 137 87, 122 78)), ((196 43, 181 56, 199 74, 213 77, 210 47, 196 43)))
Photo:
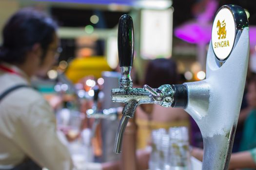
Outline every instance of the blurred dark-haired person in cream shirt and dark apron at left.
POLYGON ((0 47, 0 170, 72 170, 56 132, 51 106, 31 88, 58 57, 57 25, 45 14, 21 9, 5 24, 0 47))

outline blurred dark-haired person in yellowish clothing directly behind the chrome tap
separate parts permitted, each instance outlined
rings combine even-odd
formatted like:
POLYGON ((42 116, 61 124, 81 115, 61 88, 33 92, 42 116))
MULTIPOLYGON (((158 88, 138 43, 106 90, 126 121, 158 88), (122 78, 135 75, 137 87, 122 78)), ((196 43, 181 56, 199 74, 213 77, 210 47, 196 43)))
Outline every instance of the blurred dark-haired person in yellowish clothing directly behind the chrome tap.
MULTIPOLYGON (((159 58, 148 63, 144 85, 158 88, 161 85, 180 84, 177 65, 173 59, 159 58)), ((174 126, 189 126, 189 115, 183 108, 163 107, 158 104, 141 104, 136 110, 137 149, 150 141, 153 129, 168 130, 174 126)))

